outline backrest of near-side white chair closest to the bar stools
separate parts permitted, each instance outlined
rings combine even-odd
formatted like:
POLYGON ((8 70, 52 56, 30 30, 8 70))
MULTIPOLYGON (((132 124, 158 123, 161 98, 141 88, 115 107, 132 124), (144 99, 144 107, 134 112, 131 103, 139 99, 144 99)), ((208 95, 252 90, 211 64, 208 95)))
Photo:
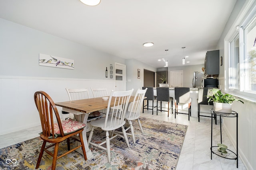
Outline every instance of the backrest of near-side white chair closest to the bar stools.
POLYGON ((130 111, 129 117, 128 117, 129 120, 138 119, 138 117, 140 116, 140 111, 142 109, 144 97, 147 90, 148 88, 145 88, 144 90, 141 90, 141 89, 137 90, 134 96, 134 100, 132 102, 132 106, 128 109, 128 111, 130 111))

